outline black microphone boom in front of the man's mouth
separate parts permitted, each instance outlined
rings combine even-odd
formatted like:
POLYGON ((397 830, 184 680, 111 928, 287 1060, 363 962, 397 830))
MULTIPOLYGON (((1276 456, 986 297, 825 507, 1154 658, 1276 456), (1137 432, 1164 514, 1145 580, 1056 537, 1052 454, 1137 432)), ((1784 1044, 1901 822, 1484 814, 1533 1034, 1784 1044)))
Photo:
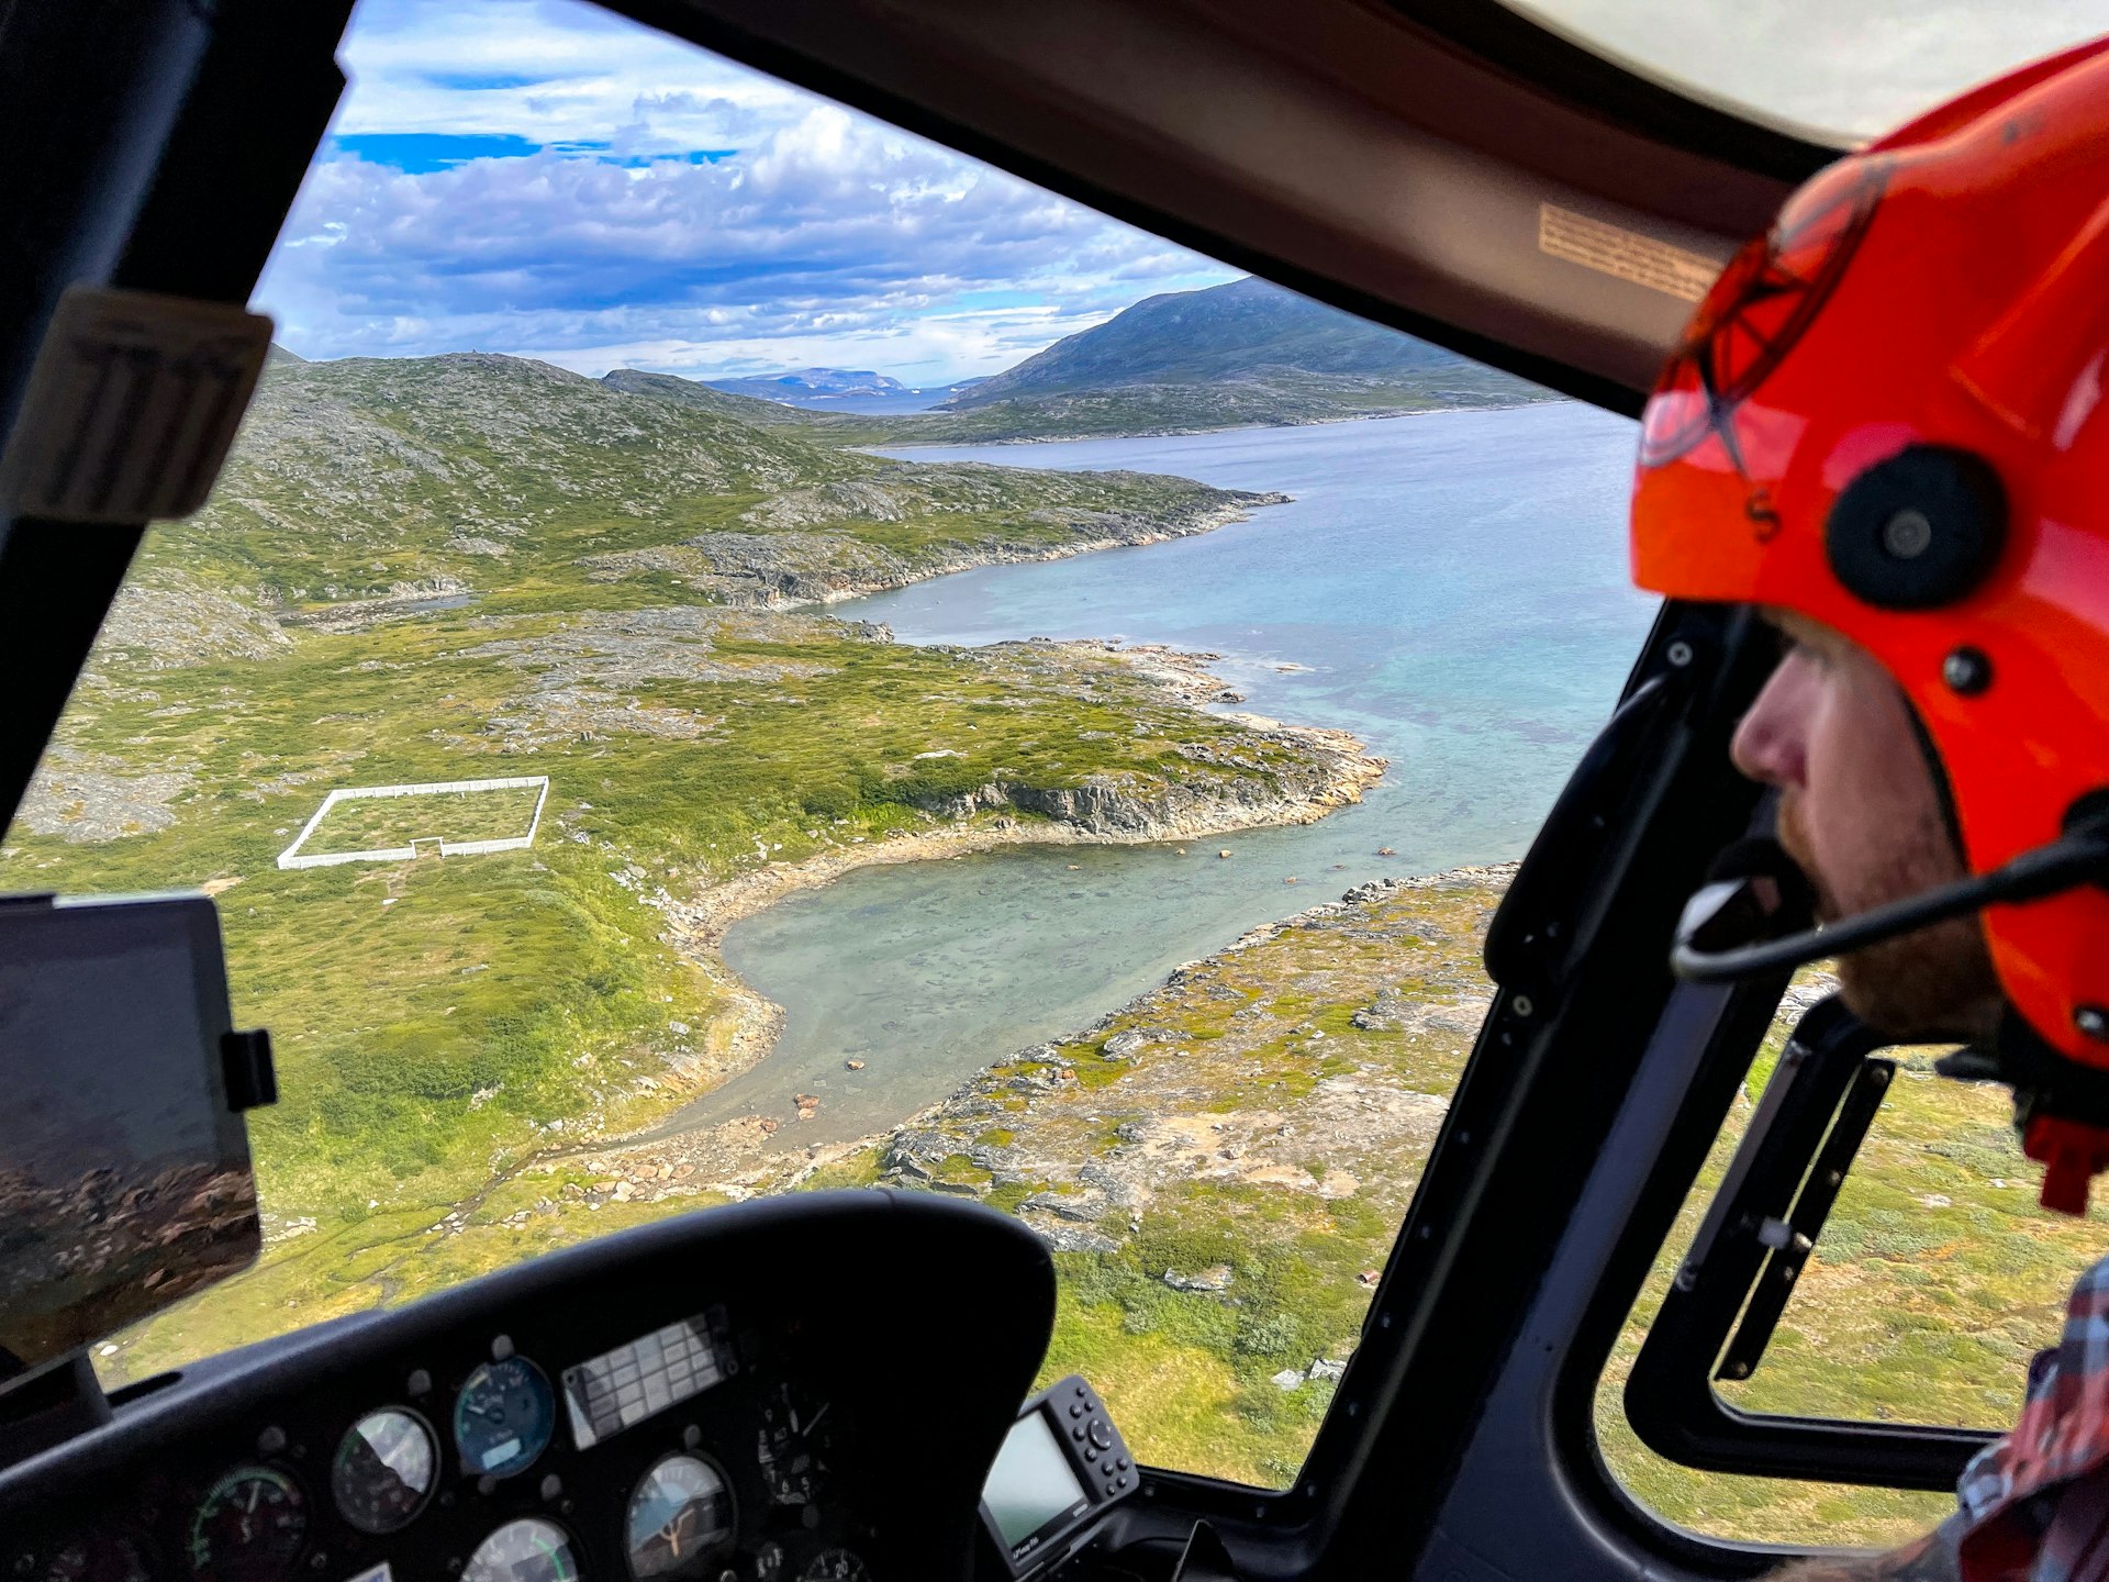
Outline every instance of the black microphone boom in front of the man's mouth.
MULTIPOLYGON (((1776 842, 1738 842, 1723 861, 1738 858, 1742 873, 1713 877, 1685 903, 1670 947, 1670 970, 1687 983, 1742 983, 1820 962, 1826 956, 1879 945, 1949 918, 1997 905, 2046 901, 2082 884, 2109 882, 2109 821, 2092 818, 2012 863, 1955 884, 1841 918, 1818 928, 1780 934, 1799 922, 1797 896, 1807 880, 1776 842), (1776 861, 1746 848, 1769 848, 1776 861), (1774 924, 1774 926, 1767 926, 1774 924)), ((1717 863, 1717 873, 1719 873, 1717 863)), ((1805 915, 1805 913, 1803 913, 1805 915)))

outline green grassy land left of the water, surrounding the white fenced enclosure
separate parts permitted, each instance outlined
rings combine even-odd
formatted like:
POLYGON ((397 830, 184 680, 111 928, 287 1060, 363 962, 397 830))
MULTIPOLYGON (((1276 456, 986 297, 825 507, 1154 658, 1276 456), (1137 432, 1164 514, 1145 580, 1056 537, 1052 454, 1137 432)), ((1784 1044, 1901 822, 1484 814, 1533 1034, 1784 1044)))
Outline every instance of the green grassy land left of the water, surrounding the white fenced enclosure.
MULTIPOLYGON (((521 1158, 723 1069, 728 985, 669 943, 660 892, 930 827, 930 808, 991 778, 1114 774, 1147 795, 1295 761, 1111 658, 901 648, 582 565, 698 523, 755 534, 742 510, 844 479, 909 477, 943 506, 962 472, 506 359, 272 369, 215 504, 150 538, 148 593, 61 726, 63 789, 0 848, 0 888, 221 888, 236 1015, 278 1038, 283 1099, 251 1120, 266 1268, 150 1325, 112 1373, 434 1289, 620 1217, 567 1209, 523 1232, 502 1223, 521 1190, 487 1194, 521 1158), (268 614, 432 578, 472 582, 479 601, 291 635, 268 614), (932 751, 951 755, 917 757, 932 751), (494 774, 553 778, 531 852, 272 865, 331 787, 494 774), (99 802, 116 806, 103 833, 127 833, 80 840, 99 802)), ((1090 536, 1101 508, 1230 500, 1175 479, 968 481, 970 510, 852 513, 827 532, 1046 546, 1090 536)))

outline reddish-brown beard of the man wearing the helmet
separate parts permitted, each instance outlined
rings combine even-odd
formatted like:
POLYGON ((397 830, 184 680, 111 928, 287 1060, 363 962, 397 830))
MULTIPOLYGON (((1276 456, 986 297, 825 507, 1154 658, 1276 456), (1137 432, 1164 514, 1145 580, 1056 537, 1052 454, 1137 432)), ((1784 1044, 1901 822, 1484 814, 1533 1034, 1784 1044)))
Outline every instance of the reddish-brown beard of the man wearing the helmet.
MULTIPOLYGON (((1801 804, 1780 804, 1778 837, 1816 888, 1816 911, 1831 922, 1961 877, 1938 818, 1913 831, 1883 867, 1866 873, 1852 907, 1841 907, 1812 856, 1801 804)), ((1860 1021, 1890 1038, 1949 1042, 1991 1038, 1999 1025, 1999 977, 1976 915, 1951 918, 1885 939, 1837 962, 1839 989, 1860 1021)))

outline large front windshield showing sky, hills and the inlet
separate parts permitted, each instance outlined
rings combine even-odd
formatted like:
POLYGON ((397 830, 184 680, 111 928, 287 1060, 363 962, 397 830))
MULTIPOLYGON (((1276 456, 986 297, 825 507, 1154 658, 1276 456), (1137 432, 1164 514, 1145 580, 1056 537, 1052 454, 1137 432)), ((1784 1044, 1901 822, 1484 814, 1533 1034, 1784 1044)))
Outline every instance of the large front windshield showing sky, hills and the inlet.
POLYGON ((259 1268, 99 1371, 884 1183, 1057 1249, 1141 1455, 1284 1485, 1647 631, 1632 424, 584 6, 346 57, 0 846, 213 892, 278 1046, 259 1268))

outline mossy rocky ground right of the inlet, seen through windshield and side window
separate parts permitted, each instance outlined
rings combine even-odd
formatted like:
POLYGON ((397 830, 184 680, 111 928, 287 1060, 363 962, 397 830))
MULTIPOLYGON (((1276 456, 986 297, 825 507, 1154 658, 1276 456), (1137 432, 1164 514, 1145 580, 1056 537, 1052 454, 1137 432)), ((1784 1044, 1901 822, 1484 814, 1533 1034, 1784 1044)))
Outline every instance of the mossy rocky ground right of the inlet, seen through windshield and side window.
MULTIPOLYGON (((1152 1462, 1293 1481, 1419 1179, 1485 1006, 1499 875, 1324 909, 991 1069, 877 1160, 970 1190, 1057 1247, 1044 1375, 1084 1371, 1152 1462), (1139 1048, 1122 1038, 1139 1036, 1139 1048), (1107 1048, 1122 1050, 1109 1059, 1107 1048)), ((1647 1451, 1620 1392, 1788 1017, 1746 1078, 1599 1390, 1618 1481, 1668 1521, 1784 1544, 1896 1544, 1953 1500, 1694 1472, 1647 1451)), ((2035 1204, 1999 1088, 1902 1050, 1860 1162, 1757 1373, 1753 1411, 2001 1428, 2056 1342, 2103 1215, 2035 1204)))

